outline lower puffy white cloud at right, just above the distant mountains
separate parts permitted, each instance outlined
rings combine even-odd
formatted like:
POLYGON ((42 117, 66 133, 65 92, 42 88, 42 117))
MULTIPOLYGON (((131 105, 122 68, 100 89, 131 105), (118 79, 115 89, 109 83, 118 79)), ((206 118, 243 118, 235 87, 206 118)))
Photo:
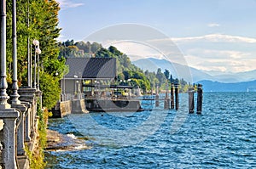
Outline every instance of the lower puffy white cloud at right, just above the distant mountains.
POLYGON ((241 72, 255 69, 256 59, 252 55, 241 51, 190 49, 185 54, 185 59, 189 66, 200 70, 241 72))

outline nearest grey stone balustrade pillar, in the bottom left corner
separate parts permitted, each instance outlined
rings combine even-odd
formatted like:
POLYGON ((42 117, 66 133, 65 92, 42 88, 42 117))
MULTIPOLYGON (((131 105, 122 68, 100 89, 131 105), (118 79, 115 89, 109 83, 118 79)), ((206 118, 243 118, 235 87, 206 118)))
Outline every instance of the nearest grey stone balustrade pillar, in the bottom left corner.
POLYGON ((16 145, 16 119, 20 112, 15 109, 0 110, 0 119, 3 119, 3 168, 16 169, 15 145, 16 145))

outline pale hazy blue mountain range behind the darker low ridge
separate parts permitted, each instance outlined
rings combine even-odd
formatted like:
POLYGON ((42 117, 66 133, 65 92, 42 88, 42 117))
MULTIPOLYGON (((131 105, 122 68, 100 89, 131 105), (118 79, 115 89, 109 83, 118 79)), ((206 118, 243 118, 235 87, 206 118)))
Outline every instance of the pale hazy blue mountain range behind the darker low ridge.
POLYGON ((187 65, 171 63, 166 59, 155 58, 138 59, 132 63, 143 70, 154 72, 156 72, 158 68, 160 68, 162 71, 170 70, 173 76, 183 78, 187 82, 191 82, 191 76, 192 82, 199 82, 202 80, 209 80, 213 82, 247 82, 256 80, 256 70, 229 74, 224 74, 218 71, 207 72, 203 70, 197 70, 187 65))

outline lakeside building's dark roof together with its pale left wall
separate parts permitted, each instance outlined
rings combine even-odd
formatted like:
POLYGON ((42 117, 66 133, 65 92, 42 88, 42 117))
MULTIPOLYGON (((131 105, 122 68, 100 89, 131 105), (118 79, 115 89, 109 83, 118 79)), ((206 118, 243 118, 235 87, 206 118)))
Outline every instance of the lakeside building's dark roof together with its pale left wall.
POLYGON ((69 71, 61 80, 62 96, 82 93, 85 80, 110 81, 117 76, 113 58, 67 58, 66 65, 69 71))

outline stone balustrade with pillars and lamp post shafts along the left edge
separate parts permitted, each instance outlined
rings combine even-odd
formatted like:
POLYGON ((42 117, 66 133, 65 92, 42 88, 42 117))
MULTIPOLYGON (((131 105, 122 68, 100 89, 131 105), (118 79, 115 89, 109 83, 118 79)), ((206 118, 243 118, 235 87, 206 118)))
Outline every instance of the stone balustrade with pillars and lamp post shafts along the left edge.
POLYGON ((12 2, 12 87, 8 93, 6 64, 6 1, 0 1, 0 168, 26 169, 30 162, 26 152, 38 149, 38 100, 42 92, 36 87, 18 87, 16 1, 12 2))

